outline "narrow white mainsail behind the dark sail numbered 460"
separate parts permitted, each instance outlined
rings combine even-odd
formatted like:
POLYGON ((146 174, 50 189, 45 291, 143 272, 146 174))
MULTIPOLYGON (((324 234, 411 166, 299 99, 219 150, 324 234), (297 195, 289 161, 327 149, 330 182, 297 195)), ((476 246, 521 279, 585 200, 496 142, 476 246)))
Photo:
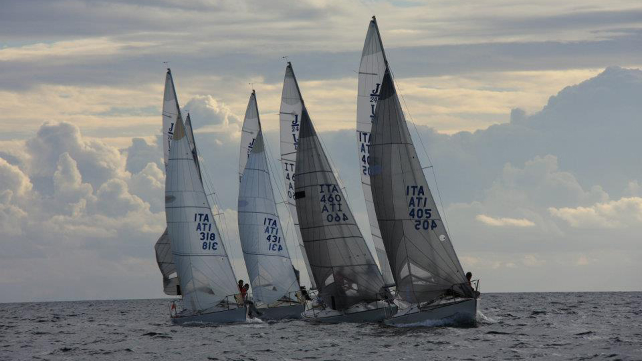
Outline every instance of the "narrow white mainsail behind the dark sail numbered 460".
POLYGON ((306 255, 306 247, 301 238, 299 229, 299 218, 297 216, 297 205, 294 199, 294 173, 297 164, 297 147, 299 146, 299 127, 302 110, 306 106, 299 91, 297 78, 294 76, 292 64, 288 62, 283 80, 283 92, 281 94, 281 109, 279 110, 279 121, 281 123, 281 164, 283 165, 283 176, 285 178, 286 193, 288 199, 288 211, 294 224, 294 233, 299 242, 299 248, 303 262, 308 271, 311 288, 317 288, 315 279, 312 277, 312 270, 306 255))

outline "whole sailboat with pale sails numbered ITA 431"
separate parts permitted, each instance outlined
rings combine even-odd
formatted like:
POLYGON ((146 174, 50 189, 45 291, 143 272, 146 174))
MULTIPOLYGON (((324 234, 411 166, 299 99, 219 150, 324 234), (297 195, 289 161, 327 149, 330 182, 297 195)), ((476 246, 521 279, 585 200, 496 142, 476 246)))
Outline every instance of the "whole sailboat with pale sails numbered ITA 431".
POLYGON ((239 180, 239 236, 252 301, 261 319, 299 319, 306 305, 277 213, 254 91, 241 131, 239 180))

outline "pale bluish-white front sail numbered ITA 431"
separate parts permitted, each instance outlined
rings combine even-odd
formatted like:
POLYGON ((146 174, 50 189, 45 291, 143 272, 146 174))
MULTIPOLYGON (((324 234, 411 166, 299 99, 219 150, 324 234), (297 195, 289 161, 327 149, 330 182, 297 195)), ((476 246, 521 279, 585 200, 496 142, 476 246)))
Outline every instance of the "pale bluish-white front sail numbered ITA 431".
POLYGON ((272 193, 261 130, 241 175, 238 223, 254 301, 272 304, 299 290, 272 193))

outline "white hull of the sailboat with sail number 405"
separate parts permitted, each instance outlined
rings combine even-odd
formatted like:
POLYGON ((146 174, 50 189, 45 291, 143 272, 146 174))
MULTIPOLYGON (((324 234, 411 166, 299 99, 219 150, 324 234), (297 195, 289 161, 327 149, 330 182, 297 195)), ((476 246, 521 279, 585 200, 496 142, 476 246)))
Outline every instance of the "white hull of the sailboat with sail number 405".
POLYGON ((456 323, 473 323, 477 316, 477 299, 464 299, 451 303, 442 303, 429 308, 417 308, 404 312, 401 310, 385 324, 394 326, 433 326, 436 322, 452 321, 456 323))

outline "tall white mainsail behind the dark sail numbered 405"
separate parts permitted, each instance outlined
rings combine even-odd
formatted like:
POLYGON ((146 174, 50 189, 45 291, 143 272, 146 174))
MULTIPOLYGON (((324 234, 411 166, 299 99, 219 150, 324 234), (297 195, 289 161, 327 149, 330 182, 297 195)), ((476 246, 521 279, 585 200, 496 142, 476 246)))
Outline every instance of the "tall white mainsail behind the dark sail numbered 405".
POLYGON ((377 252, 377 260, 386 286, 394 285, 388 256, 381 240, 377 215, 372 204, 372 191, 370 191, 370 131, 372 130, 372 118, 379 99, 381 79, 386 71, 388 61, 383 51, 381 35, 377 27, 377 21, 372 17, 368 33, 365 36, 363 51, 361 52, 361 64, 359 66, 359 89, 357 96, 357 146, 359 156, 359 172, 361 174, 361 187, 363 197, 370 220, 370 233, 372 243, 377 252))

